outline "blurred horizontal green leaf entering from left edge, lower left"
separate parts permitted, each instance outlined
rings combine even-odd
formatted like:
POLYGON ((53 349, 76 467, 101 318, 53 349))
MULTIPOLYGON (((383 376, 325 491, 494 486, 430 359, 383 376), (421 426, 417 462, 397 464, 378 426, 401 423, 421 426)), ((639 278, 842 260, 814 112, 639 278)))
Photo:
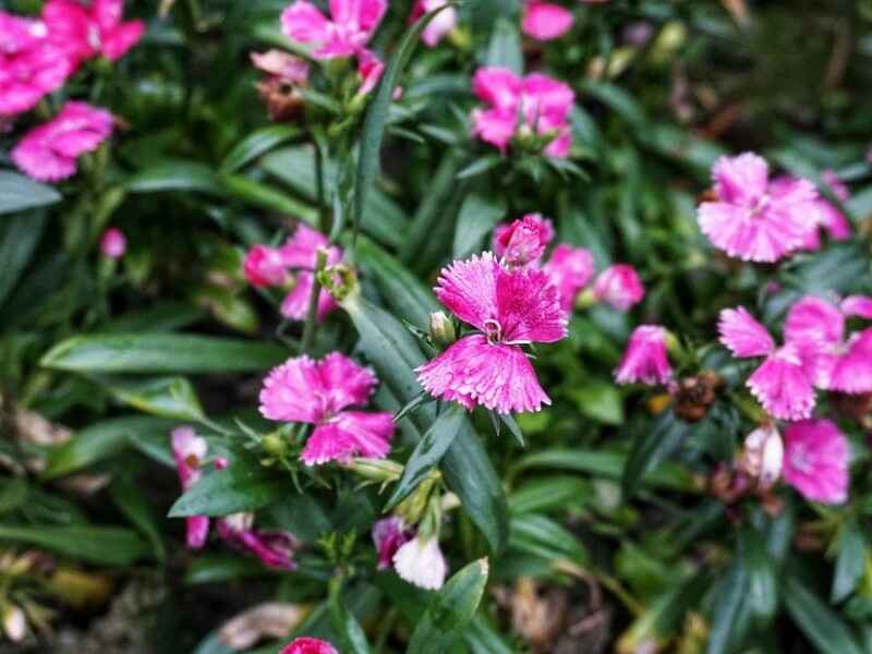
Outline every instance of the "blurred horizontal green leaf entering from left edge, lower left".
POLYGON ((113 526, 0 524, 0 542, 26 543, 101 566, 130 566, 148 553, 136 532, 113 526))

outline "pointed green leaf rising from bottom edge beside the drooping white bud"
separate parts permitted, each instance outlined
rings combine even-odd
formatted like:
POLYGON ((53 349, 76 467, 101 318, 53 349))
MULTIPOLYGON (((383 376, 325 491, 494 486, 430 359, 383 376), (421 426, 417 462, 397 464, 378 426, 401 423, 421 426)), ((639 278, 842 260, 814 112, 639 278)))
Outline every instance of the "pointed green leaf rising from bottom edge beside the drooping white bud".
POLYGON ((409 641, 407 654, 444 654, 475 616, 487 583, 487 559, 473 561, 448 580, 431 602, 409 641))

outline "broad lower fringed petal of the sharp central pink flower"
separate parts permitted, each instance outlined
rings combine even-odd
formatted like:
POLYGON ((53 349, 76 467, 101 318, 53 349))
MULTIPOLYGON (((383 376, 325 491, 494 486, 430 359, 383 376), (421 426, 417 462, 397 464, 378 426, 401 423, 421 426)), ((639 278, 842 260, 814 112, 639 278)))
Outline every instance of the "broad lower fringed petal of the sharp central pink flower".
POLYGON ((538 411, 550 404, 536 373, 517 346, 491 344, 482 335, 461 338, 429 363, 417 379, 432 396, 481 404, 499 413, 538 411))

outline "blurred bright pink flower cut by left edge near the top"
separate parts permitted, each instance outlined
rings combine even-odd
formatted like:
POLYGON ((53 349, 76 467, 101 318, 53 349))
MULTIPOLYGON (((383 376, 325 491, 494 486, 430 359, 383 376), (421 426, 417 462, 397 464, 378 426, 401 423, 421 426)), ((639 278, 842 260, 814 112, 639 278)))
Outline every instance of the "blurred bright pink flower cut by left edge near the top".
POLYGON ((41 21, 0 11, 0 117, 34 108, 73 73, 74 61, 47 35, 41 21))

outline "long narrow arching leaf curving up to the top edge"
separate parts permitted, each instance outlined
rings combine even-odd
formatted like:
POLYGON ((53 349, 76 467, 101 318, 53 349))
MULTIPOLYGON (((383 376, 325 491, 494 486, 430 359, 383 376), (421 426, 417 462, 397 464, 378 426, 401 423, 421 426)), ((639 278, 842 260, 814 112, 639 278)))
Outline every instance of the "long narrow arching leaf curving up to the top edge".
POLYGON ((361 131, 360 155, 358 159, 358 174, 354 180, 354 205, 352 210, 352 225, 354 233, 361 231, 363 227, 364 209, 366 208, 366 196, 375 182, 382 166, 382 140, 385 135, 385 124, 388 118, 388 110, 393 98, 393 89, 397 87, 400 73, 405 68, 412 50, 417 46, 421 33, 424 27, 439 12, 453 7, 452 3, 444 4, 438 9, 421 16, 414 25, 405 31, 400 45, 390 58, 378 86, 373 92, 373 99, 366 110, 366 118, 363 121, 361 131))

